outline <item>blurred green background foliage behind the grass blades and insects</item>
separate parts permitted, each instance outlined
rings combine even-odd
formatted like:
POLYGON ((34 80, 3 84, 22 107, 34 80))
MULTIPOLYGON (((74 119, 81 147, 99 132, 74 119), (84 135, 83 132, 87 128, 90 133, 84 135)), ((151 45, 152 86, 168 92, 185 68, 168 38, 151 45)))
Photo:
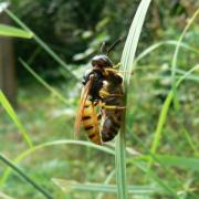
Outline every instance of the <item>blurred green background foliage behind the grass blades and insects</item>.
MULTIPOLYGON (((12 0, 11 10, 22 19, 50 48, 65 60, 71 70, 78 76, 85 71, 90 59, 100 52, 103 41, 112 44, 121 35, 126 35, 139 0, 12 0)), ((165 40, 178 40, 187 21, 199 8, 196 0, 155 0, 153 1, 143 29, 137 55, 151 44, 165 40)), ((195 50, 199 49, 198 20, 186 34, 184 42, 195 50)), ((111 54, 115 63, 119 61, 123 44, 111 54)), ((161 45, 137 63, 132 78, 128 106, 127 146, 138 153, 147 154, 154 139, 159 112, 171 85, 170 65, 175 45, 161 45), (138 139, 136 138, 138 137, 138 139), (138 142, 139 140, 139 142, 138 142)), ((21 56, 51 84, 63 80, 64 72, 34 41, 15 41, 17 57, 21 56)), ((199 63, 198 53, 180 49, 177 76, 199 63)), ((55 139, 73 138, 73 122, 78 101, 80 87, 70 78, 56 85, 59 92, 71 103, 62 102, 39 86, 27 71, 18 64, 19 81, 27 77, 33 84, 20 84, 18 114, 35 144, 55 139), (70 124, 70 125, 69 125, 70 124)), ((199 129, 199 93, 198 73, 188 78, 178 90, 178 104, 171 105, 161 137, 159 154, 182 157, 198 157, 199 129), (196 147, 191 147, 192 145, 196 147)), ((0 108, 0 139, 9 144, 0 145, 0 150, 10 157, 17 157, 25 146, 17 134, 15 126, 0 108)), ((83 136, 84 137, 84 136, 83 136)), ((85 138, 85 137, 84 137, 85 138)), ((127 165, 128 182, 145 184, 145 172, 134 165, 135 157, 129 156, 127 165)), ((140 160, 140 165, 145 166, 140 160)), ((34 179, 48 185, 54 196, 60 195, 57 188, 50 182, 52 177, 75 179, 81 182, 103 182, 114 170, 114 158, 107 154, 86 147, 59 146, 42 149, 21 164, 34 179), (101 164, 100 164, 101 163, 101 164)), ((191 189, 197 195, 198 174, 193 170, 169 167, 165 169, 158 164, 153 167, 164 182, 176 190, 191 189)), ((2 174, 4 167, 0 168, 2 174)), ((153 184, 157 181, 151 178, 153 184)), ((114 184, 115 180, 113 179, 114 184)), ((11 175, 4 186, 6 192, 21 198, 39 198, 38 193, 15 175, 11 175), (11 189, 12 187, 12 189, 11 189)), ((191 191, 185 191, 184 198, 193 198, 191 191)), ((95 198, 95 196, 74 192, 71 198, 95 198)), ((156 196, 160 198, 159 196, 156 196)), ((164 196, 165 197, 165 196, 164 196)), ((107 197, 108 198, 108 197, 107 197)), ((109 198, 113 198, 111 196, 109 198)), ((168 197, 169 198, 169 197, 168 197)))

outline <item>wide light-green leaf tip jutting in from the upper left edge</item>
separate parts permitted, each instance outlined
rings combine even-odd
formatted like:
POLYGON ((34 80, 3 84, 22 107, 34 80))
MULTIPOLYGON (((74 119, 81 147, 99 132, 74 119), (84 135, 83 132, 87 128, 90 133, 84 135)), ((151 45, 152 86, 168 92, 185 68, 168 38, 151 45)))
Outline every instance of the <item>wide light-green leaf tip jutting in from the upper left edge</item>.
POLYGON ((15 27, 10 27, 10 25, 6 25, 6 24, 0 24, 0 35, 23 38, 23 39, 33 38, 33 33, 30 31, 24 31, 24 30, 15 28, 15 27))

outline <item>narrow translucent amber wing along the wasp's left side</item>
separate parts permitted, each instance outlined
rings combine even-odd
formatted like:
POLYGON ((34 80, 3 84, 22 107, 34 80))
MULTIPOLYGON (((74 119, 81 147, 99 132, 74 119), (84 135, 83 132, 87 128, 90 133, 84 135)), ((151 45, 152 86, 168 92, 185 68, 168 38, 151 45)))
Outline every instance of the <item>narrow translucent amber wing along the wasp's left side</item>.
POLYGON ((78 132, 80 132, 80 127, 81 127, 81 123, 82 123, 83 111, 84 111, 84 106, 85 106, 85 103, 86 103, 86 100, 87 100, 92 83, 93 83, 93 80, 90 78, 87 84, 82 90, 78 111, 76 113, 76 118, 75 118, 75 124, 74 124, 75 137, 78 137, 78 132))

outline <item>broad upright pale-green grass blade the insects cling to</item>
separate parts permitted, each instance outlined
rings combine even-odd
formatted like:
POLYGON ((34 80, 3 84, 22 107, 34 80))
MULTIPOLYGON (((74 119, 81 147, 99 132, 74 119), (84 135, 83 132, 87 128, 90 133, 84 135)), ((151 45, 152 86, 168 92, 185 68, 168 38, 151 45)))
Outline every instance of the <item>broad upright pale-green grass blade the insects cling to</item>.
MULTIPOLYGON (((137 49, 137 43, 139 40, 143 23, 150 4, 150 0, 143 0, 136 11, 135 18, 132 22, 125 48, 122 54, 122 71, 133 71, 133 62, 135 57, 135 52, 137 49)), ((129 85, 130 74, 124 74, 124 91, 125 91, 125 104, 127 101, 127 90, 129 85)), ((116 180, 117 180, 117 197, 126 199, 127 198, 127 185, 126 185, 126 144, 125 144, 125 115, 122 123, 119 134, 116 138, 116 180)))

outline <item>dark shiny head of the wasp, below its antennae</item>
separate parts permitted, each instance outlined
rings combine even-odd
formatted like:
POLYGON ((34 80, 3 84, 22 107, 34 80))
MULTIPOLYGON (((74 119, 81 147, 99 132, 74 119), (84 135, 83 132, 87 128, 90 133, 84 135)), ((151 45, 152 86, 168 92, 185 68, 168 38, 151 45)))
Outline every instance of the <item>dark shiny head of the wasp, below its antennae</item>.
POLYGON ((100 67, 108 67, 108 66, 113 66, 113 63, 106 55, 101 54, 92 59, 92 65, 100 67))

